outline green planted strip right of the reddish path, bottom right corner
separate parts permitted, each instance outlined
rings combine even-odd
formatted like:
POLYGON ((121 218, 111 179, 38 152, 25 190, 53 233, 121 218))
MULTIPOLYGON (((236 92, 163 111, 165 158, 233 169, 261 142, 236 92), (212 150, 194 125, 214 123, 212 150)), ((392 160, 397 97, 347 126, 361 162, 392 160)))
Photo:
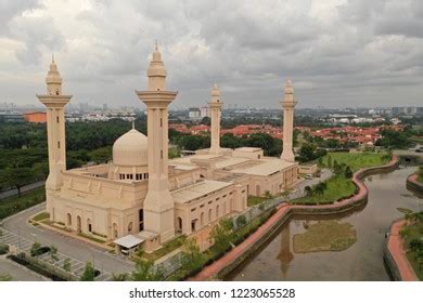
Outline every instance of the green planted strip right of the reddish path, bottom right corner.
POLYGON ((407 225, 400 235, 407 251, 407 259, 414 269, 415 276, 423 280, 423 212, 407 213, 407 225))

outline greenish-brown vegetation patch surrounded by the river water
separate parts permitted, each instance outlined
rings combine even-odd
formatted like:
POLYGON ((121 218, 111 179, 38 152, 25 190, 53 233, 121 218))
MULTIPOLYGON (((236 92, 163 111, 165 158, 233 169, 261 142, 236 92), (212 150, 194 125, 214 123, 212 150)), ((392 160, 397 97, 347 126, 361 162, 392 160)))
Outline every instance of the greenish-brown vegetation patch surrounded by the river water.
POLYGON ((294 251, 342 251, 348 249, 357 241, 356 230, 347 222, 335 220, 322 221, 310 225, 304 234, 294 235, 294 251))

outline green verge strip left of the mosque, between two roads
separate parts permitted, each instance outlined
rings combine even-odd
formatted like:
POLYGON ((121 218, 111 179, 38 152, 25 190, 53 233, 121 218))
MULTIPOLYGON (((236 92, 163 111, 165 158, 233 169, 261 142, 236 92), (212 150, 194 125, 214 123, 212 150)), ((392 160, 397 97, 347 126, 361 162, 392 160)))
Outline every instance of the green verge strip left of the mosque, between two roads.
POLYGON ((37 189, 26 192, 25 194, 22 194, 21 197, 13 196, 0 200, 0 219, 7 218, 24 209, 41 203, 44 200, 46 200, 44 187, 39 187, 37 189))

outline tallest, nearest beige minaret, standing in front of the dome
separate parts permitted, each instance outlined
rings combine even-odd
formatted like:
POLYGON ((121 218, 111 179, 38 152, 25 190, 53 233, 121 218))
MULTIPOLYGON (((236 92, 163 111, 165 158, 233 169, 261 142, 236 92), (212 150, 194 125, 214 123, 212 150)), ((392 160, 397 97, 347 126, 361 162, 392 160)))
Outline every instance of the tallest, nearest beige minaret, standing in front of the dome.
POLYGON ((144 200, 144 228, 161 236, 164 242, 175 236, 175 201, 168 184, 167 106, 178 92, 166 91, 166 69, 156 43, 146 71, 146 91, 136 91, 148 107, 149 192, 144 200))

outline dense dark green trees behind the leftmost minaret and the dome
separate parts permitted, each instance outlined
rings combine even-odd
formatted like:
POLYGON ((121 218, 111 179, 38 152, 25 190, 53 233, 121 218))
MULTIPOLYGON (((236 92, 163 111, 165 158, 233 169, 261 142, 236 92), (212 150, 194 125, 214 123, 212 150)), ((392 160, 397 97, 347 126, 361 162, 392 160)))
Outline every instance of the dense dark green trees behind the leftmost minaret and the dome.
MULTIPOLYGON (((120 119, 66 123, 67 169, 112 158, 116 139, 131 129, 120 119)), ((144 118, 136 128, 146 133, 144 118)), ((0 192, 44 180, 49 172, 46 124, 0 122, 0 192)))

